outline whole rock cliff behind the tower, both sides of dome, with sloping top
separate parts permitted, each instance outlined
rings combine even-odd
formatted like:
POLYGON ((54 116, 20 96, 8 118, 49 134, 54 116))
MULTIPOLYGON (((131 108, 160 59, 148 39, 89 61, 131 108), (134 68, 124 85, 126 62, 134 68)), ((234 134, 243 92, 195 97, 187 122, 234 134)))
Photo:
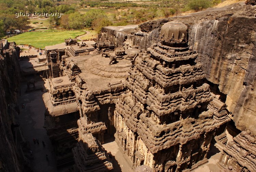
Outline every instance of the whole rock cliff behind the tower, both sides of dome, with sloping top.
MULTIPOLYGON (((211 8, 177 20, 188 26, 188 44, 198 52, 207 80, 227 95, 227 109, 237 128, 256 135, 256 8, 248 4, 211 8)), ((174 19, 147 21, 133 31, 104 27, 102 33, 117 47, 146 49, 159 41, 160 27, 174 19)))

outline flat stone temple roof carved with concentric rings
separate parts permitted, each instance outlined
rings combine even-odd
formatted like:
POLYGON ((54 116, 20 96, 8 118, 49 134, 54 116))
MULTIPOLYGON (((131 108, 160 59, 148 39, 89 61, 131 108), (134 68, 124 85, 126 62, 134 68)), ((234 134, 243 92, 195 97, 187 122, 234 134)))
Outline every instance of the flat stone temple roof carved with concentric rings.
POLYGON ((88 90, 108 89, 110 83, 117 83, 124 80, 130 70, 130 60, 117 60, 118 62, 109 65, 110 58, 102 57, 101 55, 83 55, 69 57, 77 64, 81 73, 79 74, 85 81, 85 86, 88 90))

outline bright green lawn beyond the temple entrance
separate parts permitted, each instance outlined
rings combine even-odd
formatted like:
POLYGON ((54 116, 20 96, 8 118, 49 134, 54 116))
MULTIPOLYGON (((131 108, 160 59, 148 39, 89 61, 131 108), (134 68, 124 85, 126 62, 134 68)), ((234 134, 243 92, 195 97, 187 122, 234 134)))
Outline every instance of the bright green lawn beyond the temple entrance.
POLYGON ((9 42, 16 42, 16 44, 30 44, 37 48, 44 48, 48 45, 60 44, 67 38, 75 38, 79 35, 85 34, 82 31, 48 31, 48 32, 26 32, 8 38, 9 42))

